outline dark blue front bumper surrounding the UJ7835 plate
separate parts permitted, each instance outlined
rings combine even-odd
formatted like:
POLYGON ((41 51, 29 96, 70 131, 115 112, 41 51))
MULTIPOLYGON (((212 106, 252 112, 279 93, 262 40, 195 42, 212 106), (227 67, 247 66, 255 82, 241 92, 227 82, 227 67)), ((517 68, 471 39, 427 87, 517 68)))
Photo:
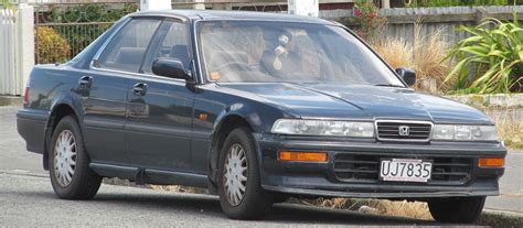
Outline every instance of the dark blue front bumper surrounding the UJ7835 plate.
MULTIPOLYGON (((262 186, 271 192, 297 195, 426 198, 499 195, 498 180, 504 169, 478 167, 479 158, 504 158, 506 150, 494 143, 383 143, 369 141, 311 140, 256 135, 262 186), (278 151, 322 151, 327 163, 282 162, 278 151), (434 161, 427 183, 383 182, 377 178, 382 158, 434 161), (340 172, 342 161, 354 161, 354 173, 340 172)), ((345 166, 346 167, 346 166, 345 166)), ((345 169, 346 170, 346 169, 345 169)))

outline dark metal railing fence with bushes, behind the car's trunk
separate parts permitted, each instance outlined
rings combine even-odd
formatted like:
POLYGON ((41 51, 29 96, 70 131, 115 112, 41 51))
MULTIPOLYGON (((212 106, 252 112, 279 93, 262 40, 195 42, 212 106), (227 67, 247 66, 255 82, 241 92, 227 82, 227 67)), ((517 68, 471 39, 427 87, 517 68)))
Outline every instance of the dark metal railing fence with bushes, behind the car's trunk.
POLYGON ((35 62, 71 59, 115 21, 137 10, 137 3, 126 1, 35 6, 35 62))

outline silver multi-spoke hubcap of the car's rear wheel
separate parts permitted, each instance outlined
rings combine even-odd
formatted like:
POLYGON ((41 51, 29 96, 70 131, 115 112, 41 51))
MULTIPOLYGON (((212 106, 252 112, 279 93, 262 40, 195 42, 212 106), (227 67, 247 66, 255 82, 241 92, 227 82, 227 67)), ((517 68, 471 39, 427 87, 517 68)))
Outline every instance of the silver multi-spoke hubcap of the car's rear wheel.
POLYGON ((60 132, 54 145, 54 176, 65 187, 71 184, 76 169, 76 140, 70 130, 60 132))

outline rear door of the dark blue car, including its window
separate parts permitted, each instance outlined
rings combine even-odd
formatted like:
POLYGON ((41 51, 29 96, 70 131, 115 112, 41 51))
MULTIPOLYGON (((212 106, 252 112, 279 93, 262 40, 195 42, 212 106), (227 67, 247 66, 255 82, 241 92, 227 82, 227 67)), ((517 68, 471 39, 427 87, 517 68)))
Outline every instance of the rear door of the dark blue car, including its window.
POLYGON ((129 163, 124 137, 128 88, 160 22, 153 18, 130 20, 95 56, 93 70, 81 78, 85 146, 93 162, 129 163))

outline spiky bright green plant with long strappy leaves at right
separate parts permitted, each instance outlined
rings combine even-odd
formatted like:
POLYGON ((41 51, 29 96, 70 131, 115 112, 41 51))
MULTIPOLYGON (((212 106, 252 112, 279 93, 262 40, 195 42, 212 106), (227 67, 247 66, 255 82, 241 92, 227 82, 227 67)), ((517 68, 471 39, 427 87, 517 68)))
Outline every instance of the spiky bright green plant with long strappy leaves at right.
POLYGON ((458 42, 445 58, 457 62, 445 79, 453 83, 455 91, 494 94, 522 90, 523 30, 515 11, 513 17, 512 22, 490 18, 476 28, 459 29, 471 36, 458 42), (476 67, 474 72, 471 72, 471 66, 476 67), (470 78, 471 74, 473 78, 470 78))

